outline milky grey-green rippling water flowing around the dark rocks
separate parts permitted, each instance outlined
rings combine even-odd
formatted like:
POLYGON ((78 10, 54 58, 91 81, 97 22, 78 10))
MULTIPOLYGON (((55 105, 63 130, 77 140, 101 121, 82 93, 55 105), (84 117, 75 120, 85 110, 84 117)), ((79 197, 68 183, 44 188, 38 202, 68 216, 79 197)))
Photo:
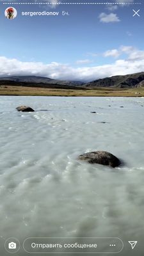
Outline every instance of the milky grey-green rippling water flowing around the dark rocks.
POLYGON ((1 255, 8 237, 119 237, 143 255, 144 98, 2 96, 0 120, 1 255), (125 164, 77 160, 93 150, 125 164))

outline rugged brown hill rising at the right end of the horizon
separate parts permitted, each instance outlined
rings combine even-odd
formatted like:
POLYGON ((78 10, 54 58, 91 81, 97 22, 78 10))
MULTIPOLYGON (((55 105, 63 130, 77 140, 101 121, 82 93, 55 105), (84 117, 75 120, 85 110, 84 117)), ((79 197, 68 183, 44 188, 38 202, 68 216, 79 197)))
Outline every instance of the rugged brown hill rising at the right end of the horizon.
POLYGON ((86 87, 136 88, 144 86, 144 72, 125 76, 111 76, 85 83, 86 87))

